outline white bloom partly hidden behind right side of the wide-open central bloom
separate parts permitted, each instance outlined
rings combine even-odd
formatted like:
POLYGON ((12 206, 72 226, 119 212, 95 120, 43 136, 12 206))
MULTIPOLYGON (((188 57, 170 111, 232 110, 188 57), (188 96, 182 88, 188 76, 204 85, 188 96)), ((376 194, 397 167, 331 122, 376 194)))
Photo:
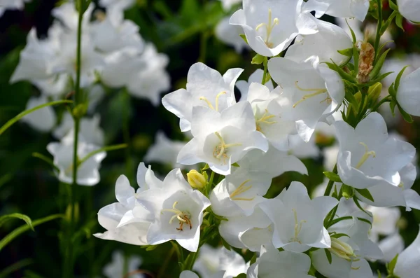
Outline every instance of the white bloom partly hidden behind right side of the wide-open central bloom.
POLYGON ((269 92, 265 85, 251 83, 246 100, 252 106, 257 130, 274 148, 288 151, 289 134, 296 134, 296 127, 290 109, 282 107, 287 106, 288 99, 283 97, 281 87, 269 92))

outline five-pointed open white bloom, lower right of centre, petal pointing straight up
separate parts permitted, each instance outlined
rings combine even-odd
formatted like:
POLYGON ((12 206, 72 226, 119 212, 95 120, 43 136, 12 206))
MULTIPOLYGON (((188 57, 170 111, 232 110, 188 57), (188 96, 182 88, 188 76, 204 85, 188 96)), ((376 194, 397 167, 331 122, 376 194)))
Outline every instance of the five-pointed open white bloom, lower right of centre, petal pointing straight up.
POLYGON ((293 181, 279 196, 259 205, 274 223, 274 246, 286 251, 304 252, 311 247, 330 248, 330 235, 323 227, 323 221, 337 203, 329 196, 311 200, 307 188, 293 181))

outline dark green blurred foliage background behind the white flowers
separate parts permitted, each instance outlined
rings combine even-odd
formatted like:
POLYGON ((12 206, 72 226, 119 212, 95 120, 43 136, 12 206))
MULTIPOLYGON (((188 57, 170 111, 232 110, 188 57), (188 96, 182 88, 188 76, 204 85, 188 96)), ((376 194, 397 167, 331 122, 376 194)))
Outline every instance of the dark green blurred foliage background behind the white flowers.
MULTIPOLYGON (((33 0, 25 11, 6 11, 0 18, 0 125, 25 110, 31 95, 38 95, 37 89, 28 82, 9 84, 13 70, 18 64, 19 53, 25 47, 26 36, 31 27, 36 27, 38 36, 45 36, 52 22, 51 9, 54 0, 33 0)), ((387 6, 385 6, 387 8, 387 6)), ((386 11, 386 15, 391 11, 386 11)), ((231 67, 244 68, 241 79, 258 67, 252 65, 254 53, 236 53, 214 36, 216 24, 228 13, 221 8, 220 1, 207 0, 137 0, 136 6, 126 11, 125 17, 141 27, 141 36, 152 41, 162 53, 169 55, 167 70, 172 78, 172 90, 183 88, 190 65, 202 61, 222 74, 231 67)), ((328 18, 332 20, 332 18, 328 18)), ((406 32, 391 26, 395 38, 395 49, 391 55, 420 53, 420 27, 404 22, 406 32)), ((63 107, 56 108, 64 109, 63 107)), ((153 107, 148 101, 128 97, 124 91, 107 92, 106 98, 97 111, 102 116, 102 128, 106 134, 106 144, 123 143, 123 111, 130 118, 130 143, 128 155, 132 164, 127 167, 124 151, 110 152, 102 163, 101 182, 94 187, 78 187, 78 240, 75 242, 76 269, 80 277, 101 277, 102 268, 111 260, 114 250, 123 250, 126 256, 138 254, 144 260, 141 268, 162 277, 174 277, 178 273, 176 256, 172 244, 167 242, 152 251, 139 246, 109 242, 92 237, 94 232, 102 232, 97 223, 97 211, 106 204, 116 202, 115 181, 120 174, 129 176, 134 185, 134 173, 144 157, 148 146, 153 144, 155 134, 163 130, 172 139, 184 139, 179 131, 179 120, 162 106, 153 107), (165 261, 162 261, 162 258, 165 261)), ((420 146, 420 121, 412 125, 400 121, 397 126, 414 146, 420 146)), ((52 173, 50 165, 32 153, 49 156, 45 146, 55 141, 50 134, 41 134, 26 125, 18 123, 0 137, 0 215, 21 213, 31 219, 43 218, 66 211, 69 185, 60 183, 52 173)), ((302 181, 309 190, 323 181, 323 160, 304 160, 309 176, 288 172, 274 179, 267 196, 274 196, 288 186, 290 181, 302 181)), ((169 168, 153 165, 155 172, 164 175, 169 168)), ((216 179, 217 181, 217 179, 216 179)), ((420 183, 414 186, 420 189, 420 183)), ((406 244, 412 242, 418 232, 420 211, 402 211, 405 218, 401 234, 406 244)), ((20 221, 8 221, 0 227, 0 238, 22 225, 20 221)), ((50 221, 30 230, 6 246, 0 252, 0 273, 6 277, 60 277, 62 267, 62 221, 50 221), (8 267, 8 268, 6 268, 8 267), (12 271, 10 271, 10 269, 12 271)), ((65 228, 65 227, 64 227, 65 228)), ((216 237, 213 244, 221 244, 216 237)), ((239 253, 241 251, 239 250, 239 253)), ((244 253, 250 260, 253 253, 244 253)), ((383 266, 377 265, 381 270, 383 266)))

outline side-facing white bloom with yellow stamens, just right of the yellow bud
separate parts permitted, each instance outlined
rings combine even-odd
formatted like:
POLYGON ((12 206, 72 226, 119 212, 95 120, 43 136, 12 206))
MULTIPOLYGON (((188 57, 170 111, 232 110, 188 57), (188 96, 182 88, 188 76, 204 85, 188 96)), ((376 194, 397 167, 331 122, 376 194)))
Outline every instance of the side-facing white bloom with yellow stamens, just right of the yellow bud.
POLYGON ((210 195, 211 209, 220 216, 250 216, 255 205, 265 201, 262 196, 267 194, 274 177, 288 171, 307 174, 304 164, 294 155, 272 147, 267 153, 250 151, 237 164, 239 167, 234 167, 210 195))

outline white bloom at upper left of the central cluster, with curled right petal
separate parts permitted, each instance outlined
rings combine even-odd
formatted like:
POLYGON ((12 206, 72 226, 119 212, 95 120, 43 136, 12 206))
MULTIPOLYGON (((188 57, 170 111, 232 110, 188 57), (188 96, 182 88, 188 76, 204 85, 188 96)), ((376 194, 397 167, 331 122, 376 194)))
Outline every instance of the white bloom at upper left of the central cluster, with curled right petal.
POLYGON ((223 76, 205 64, 196 63, 190 67, 187 88, 171 92, 162 98, 162 104, 180 118, 179 126, 185 132, 191 129, 193 108, 209 107, 223 111, 235 104, 235 83, 243 69, 229 69, 223 76))

